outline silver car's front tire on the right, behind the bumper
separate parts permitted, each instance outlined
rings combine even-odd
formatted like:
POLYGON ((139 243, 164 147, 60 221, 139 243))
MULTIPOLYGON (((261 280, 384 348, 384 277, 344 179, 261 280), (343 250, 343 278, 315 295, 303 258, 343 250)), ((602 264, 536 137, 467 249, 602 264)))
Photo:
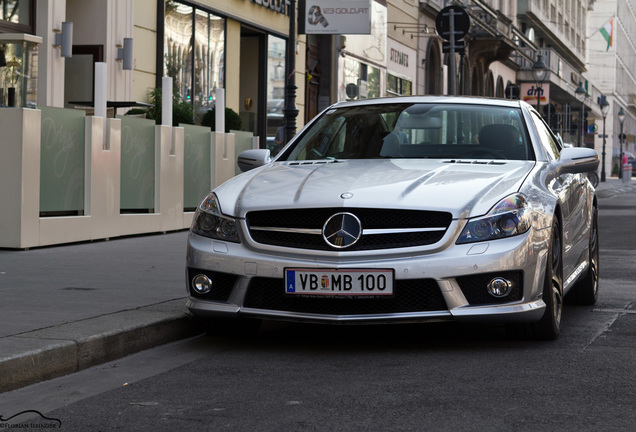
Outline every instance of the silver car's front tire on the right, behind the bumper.
POLYGON ((551 236, 543 279, 545 312, 539 321, 509 326, 509 334, 515 338, 555 340, 559 337, 563 314, 563 248, 561 228, 556 218, 552 222, 551 236))

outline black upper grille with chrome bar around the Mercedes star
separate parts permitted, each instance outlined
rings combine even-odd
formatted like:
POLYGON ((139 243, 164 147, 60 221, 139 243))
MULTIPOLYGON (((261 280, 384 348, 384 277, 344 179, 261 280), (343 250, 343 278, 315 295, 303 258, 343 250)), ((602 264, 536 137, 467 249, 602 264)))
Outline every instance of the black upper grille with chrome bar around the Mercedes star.
POLYGON ((250 236, 257 243, 296 249, 334 250, 323 239, 322 228, 331 216, 342 212, 356 215, 364 230, 376 230, 374 234, 363 234, 356 244, 343 251, 434 244, 444 237, 452 221, 452 215, 446 212, 368 208, 265 210, 248 213, 246 220, 250 236), (409 232, 382 232, 399 229, 409 232))

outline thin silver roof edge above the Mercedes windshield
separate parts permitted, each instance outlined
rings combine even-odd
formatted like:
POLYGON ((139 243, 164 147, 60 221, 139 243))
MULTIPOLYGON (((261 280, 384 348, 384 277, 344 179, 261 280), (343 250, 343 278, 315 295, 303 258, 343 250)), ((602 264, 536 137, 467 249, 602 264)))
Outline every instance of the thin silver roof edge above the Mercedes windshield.
POLYGON ((519 100, 499 99, 479 96, 393 96, 376 99, 363 99, 357 101, 338 102, 331 108, 344 108, 352 106, 395 104, 395 103, 435 103, 435 104, 458 104, 458 105, 492 105, 510 108, 520 108, 529 104, 519 100))

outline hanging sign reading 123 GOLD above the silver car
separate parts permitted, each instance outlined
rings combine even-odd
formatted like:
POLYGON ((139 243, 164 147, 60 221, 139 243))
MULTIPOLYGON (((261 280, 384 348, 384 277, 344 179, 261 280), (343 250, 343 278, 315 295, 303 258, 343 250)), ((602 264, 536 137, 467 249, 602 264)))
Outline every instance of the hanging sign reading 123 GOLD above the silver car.
POLYGON ((301 0, 298 14, 301 34, 371 34, 371 0, 301 0))

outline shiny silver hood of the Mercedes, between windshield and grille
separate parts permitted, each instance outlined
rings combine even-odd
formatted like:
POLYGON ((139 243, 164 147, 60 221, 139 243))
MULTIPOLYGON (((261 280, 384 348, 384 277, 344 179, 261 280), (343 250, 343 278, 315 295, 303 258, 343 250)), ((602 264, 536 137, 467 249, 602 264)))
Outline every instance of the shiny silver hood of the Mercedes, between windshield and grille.
POLYGON ((483 215, 515 193, 534 161, 365 159, 276 162, 224 183, 215 192, 223 213, 366 207, 483 215), (346 194, 346 195, 343 195, 346 194))

